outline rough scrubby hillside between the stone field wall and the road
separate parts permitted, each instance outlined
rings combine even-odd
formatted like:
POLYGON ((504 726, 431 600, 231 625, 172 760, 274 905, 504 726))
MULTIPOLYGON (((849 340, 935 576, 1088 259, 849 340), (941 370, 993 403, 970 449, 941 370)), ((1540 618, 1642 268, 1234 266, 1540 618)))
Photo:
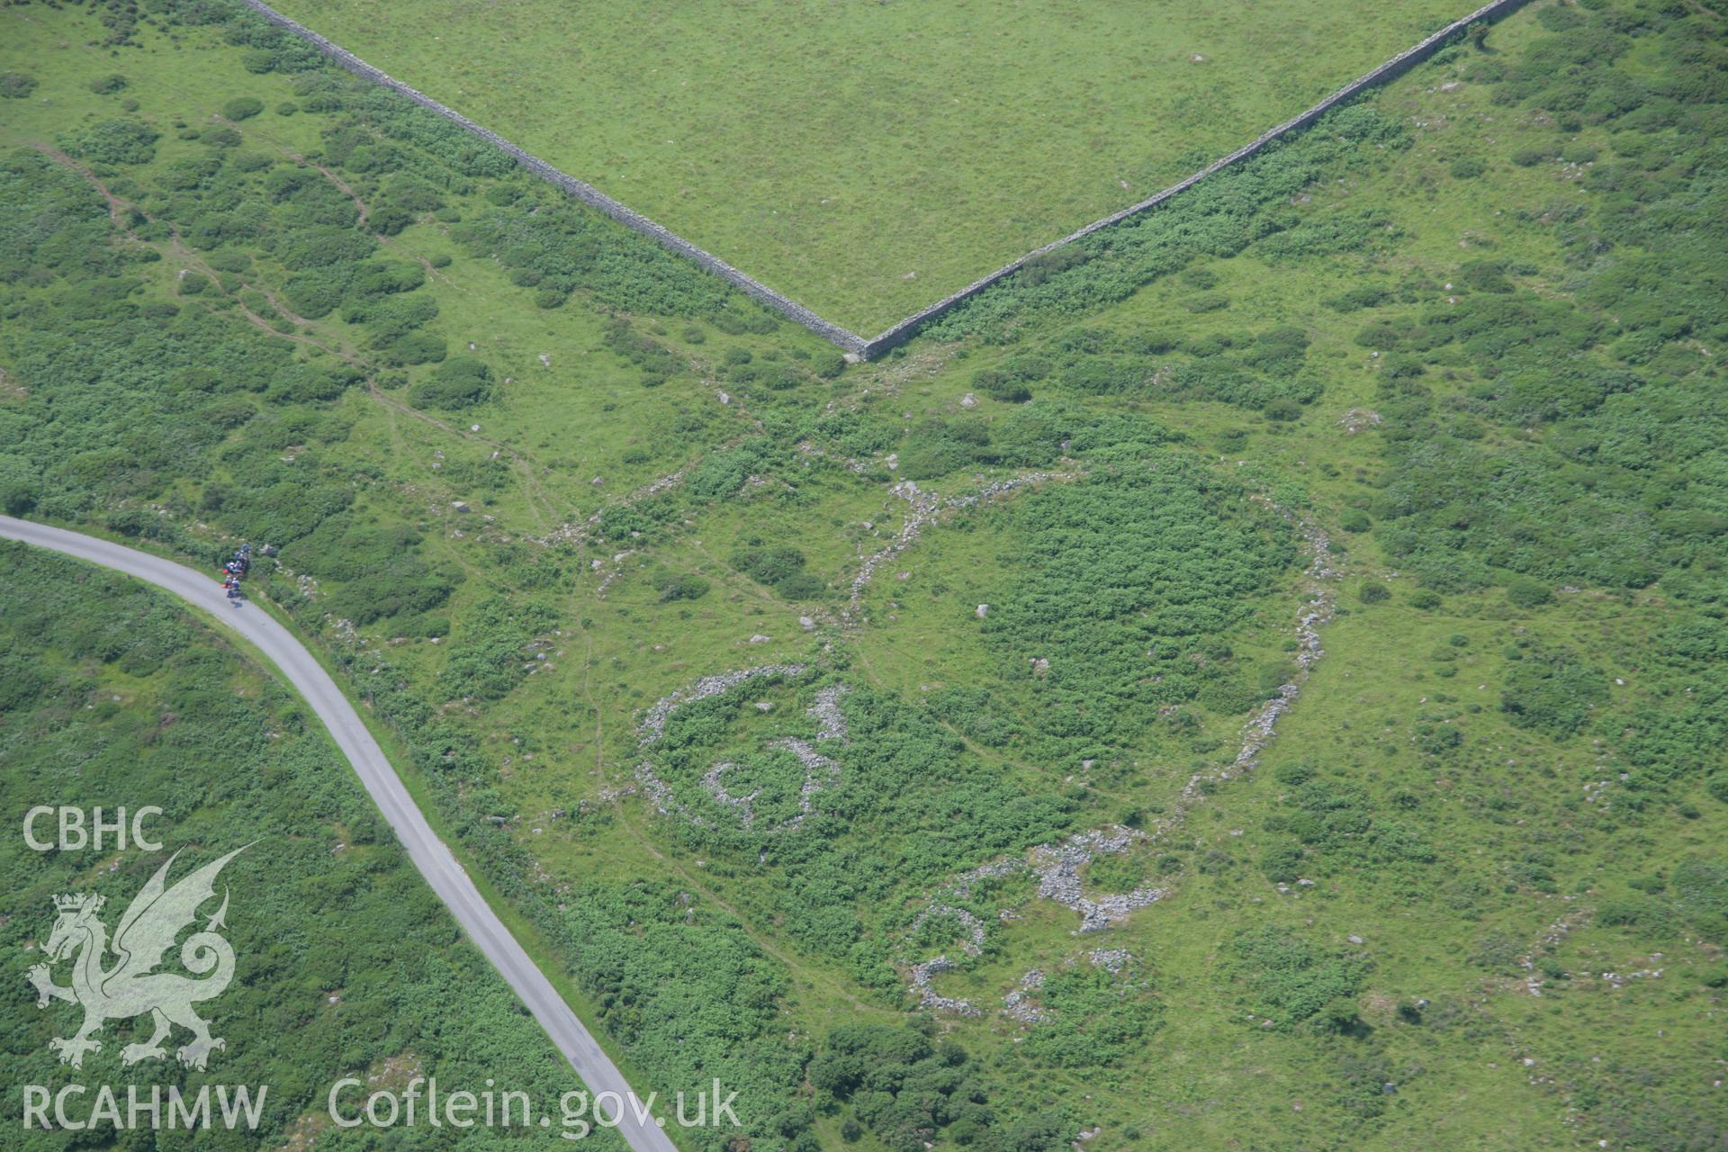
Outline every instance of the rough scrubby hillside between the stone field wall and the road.
POLYGON ((5 17, 0 492, 275 544, 632 1081, 759 1152, 1719 1142, 1711 16, 1534 5, 845 366, 256 22, 95 12, 5 17), (1099 934, 956 891, 1172 820, 1099 934))

